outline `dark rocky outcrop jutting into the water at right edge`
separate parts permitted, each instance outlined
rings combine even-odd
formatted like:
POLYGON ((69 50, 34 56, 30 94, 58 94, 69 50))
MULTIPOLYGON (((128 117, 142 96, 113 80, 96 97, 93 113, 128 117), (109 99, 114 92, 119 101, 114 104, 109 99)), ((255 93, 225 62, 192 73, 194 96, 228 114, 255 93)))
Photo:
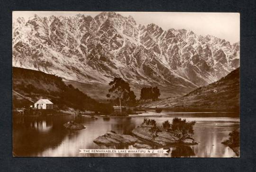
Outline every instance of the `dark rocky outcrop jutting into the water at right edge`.
POLYGON ((237 156, 240 155, 240 128, 229 133, 229 138, 224 138, 222 144, 228 145, 237 156))

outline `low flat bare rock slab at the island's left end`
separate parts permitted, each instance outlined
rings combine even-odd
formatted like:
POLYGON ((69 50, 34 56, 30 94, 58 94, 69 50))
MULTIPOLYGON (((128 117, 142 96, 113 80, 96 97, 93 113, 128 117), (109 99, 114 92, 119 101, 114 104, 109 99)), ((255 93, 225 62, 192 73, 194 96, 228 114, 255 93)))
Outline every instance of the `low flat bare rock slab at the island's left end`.
POLYGON ((93 142, 97 144, 125 144, 125 145, 132 145, 134 144, 138 139, 134 136, 130 135, 120 135, 113 131, 107 132, 103 136, 99 136, 96 139, 93 140, 93 142))

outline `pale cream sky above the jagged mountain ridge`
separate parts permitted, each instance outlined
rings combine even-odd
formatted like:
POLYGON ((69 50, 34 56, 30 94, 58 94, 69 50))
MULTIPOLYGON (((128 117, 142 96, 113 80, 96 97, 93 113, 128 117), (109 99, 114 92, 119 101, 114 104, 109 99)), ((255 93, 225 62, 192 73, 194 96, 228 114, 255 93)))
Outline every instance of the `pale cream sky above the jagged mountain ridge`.
MULTIPOLYGON (((77 14, 95 17, 101 11, 13 11, 13 19, 23 17, 27 20, 37 14, 40 17, 74 16, 77 14)), ((122 16, 132 16, 137 24, 155 23, 163 30, 170 28, 192 30, 197 35, 212 35, 225 39, 231 44, 240 40, 239 13, 202 12, 116 12, 122 16)))

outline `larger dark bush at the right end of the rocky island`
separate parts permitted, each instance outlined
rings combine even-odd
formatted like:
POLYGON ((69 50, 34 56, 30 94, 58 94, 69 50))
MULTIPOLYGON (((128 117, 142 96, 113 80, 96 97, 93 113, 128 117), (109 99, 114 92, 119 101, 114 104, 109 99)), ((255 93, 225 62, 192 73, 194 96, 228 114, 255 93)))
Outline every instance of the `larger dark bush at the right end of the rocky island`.
POLYGON ((171 125, 171 129, 174 132, 174 135, 177 136, 180 140, 183 140, 188 137, 192 137, 194 134, 193 126, 195 121, 186 122, 186 119, 174 118, 171 125))

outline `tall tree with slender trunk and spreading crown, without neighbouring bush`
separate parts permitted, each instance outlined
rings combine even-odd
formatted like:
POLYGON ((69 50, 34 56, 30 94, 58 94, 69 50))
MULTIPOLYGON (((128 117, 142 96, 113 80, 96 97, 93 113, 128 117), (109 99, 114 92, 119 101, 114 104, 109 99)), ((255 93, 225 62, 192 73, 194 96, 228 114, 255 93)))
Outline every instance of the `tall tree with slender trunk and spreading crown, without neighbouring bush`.
POLYGON ((134 95, 133 91, 132 92, 130 91, 129 83, 124 81, 122 78, 114 78, 113 81, 110 81, 109 85, 112 86, 109 89, 109 92, 116 94, 117 99, 119 100, 120 114, 121 114, 122 102, 127 104, 129 100, 134 100, 136 96, 134 95))

